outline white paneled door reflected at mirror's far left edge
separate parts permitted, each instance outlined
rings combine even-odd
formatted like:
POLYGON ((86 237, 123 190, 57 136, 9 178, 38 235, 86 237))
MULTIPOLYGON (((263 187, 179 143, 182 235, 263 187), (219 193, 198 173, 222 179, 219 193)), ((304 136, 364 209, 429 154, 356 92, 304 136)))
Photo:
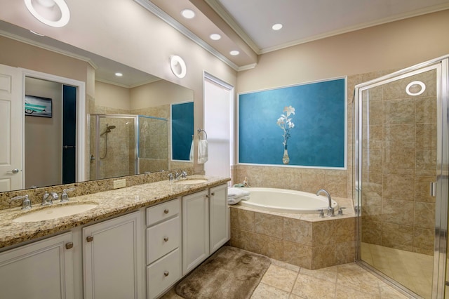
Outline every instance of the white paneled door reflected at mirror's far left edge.
POLYGON ((0 65, 0 192, 23 189, 22 72, 0 65))

